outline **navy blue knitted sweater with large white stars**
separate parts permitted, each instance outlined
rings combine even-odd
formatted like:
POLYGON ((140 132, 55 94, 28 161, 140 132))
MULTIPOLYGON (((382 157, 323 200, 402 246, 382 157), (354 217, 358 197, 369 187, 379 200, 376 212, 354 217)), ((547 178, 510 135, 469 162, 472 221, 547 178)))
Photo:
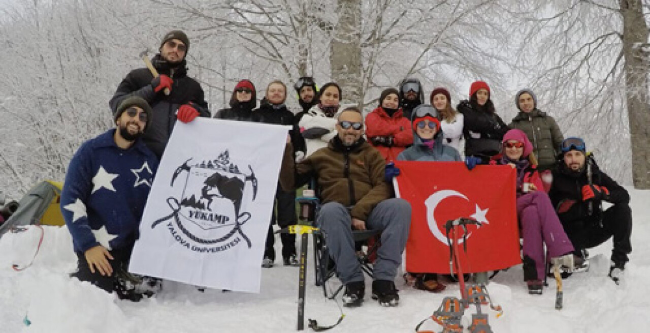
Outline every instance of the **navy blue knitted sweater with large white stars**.
POLYGON ((158 159, 142 140, 128 149, 115 144, 116 129, 81 145, 68 166, 61 213, 74 250, 133 246, 158 159))

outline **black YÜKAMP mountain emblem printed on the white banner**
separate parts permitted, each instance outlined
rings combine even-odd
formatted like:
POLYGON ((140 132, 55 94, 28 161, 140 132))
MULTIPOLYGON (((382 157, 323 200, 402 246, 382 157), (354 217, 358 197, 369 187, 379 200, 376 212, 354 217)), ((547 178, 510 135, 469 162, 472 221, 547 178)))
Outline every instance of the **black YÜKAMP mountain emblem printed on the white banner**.
POLYGON ((151 228, 166 222, 175 241, 194 252, 222 252, 250 239, 242 225, 251 218, 246 211, 257 196, 257 178, 240 172, 226 150, 210 161, 176 168, 170 187, 183 185, 179 196, 167 198, 172 212, 155 220, 151 228), (184 180, 184 183, 183 183, 184 180))

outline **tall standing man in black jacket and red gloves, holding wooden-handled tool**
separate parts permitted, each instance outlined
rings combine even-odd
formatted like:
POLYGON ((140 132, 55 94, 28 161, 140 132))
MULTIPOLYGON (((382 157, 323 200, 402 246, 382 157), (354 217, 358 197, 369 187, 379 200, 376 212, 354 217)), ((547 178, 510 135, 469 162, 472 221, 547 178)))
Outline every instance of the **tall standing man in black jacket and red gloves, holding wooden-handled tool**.
POLYGON ((187 76, 185 57, 189 48, 190 40, 183 31, 165 34, 159 53, 151 59, 160 75, 153 77, 146 67, 132 70, 109 101, 112 111, 130 96, 139 96, 151 105, 153 113, 149 114, 151 121, 143 139, 159 159, 177 118, 187 123, 197 116, 210 116, 201 85, 187 76))

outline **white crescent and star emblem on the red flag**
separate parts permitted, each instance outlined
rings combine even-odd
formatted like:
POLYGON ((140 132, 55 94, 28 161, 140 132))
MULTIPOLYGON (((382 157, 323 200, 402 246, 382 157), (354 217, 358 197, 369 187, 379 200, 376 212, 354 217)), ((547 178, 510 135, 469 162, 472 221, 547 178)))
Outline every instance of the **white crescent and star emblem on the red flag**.
MULTIPOLYGON (((426 198, 426 200, 424 200, 424 206, 426 206, 426 220, 429 229, 431 230, 431 233, 434 235, 435 239, 437 239, 444 245, 448 244, 447 243, 448 240, 447 240, 447 236, 443 235, 443 233, 441 232, 441 227, 444 229, 444 224, 445 222, 447 222, 447 220, 458 219, 459 217, 466 217, 465 216, 466 214, 463 213, 466 213, 464 212, 464 210, 467 209, 461 209, 459 205, 456 205, 453 208, 454 213, 441 211, 437 215, 439 217, 439 221, 435 219, 436 208, 438 207, 438 204, 440 204, 443 200, 454 196, 463 198, 465 199, 465 201, 469 202, 469 199, 467 198, 467 196, 465 196, 465 194, 462 194, 454 190, 437 191, 431 194, 428 198, 426 198)), ((476 220, 476 222, 481 222, 483 226, 487 226, 487 224, 489 224, 489 221, 486 218, 487 211, 489 211, 489 208, 481 209, 478 206, 478 204, 474 204, 474 213, 469 215, 469 217, 471 219, 476 220)), ((469 213, 469 210, 467 211, 467 213, 469 213)), ((467 237, 459 237, 458 243, 459 244, 463 243, 463 239, 467 239, 472 235, 472 232, 470 232, 470 230, 475 231, 478 228, 480 228, 480 226, 467 226, 467 237)))

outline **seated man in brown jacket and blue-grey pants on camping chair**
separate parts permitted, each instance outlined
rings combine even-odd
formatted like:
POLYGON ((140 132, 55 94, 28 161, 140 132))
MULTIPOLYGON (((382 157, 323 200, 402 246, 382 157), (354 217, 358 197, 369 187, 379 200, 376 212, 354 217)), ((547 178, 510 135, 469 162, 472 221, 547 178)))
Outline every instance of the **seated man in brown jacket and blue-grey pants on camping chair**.
POLYGON ((383 306, 396 306, 399 295, 394 280, 406 246, 411 206, 401 198, 389 198, 389 187, 384 181, 385 162, 362 137, 361 111, 356 107, 344 109, 337 115, 336 130, 337 135, 327 147, 295 166, 288 142, 280 184, 290 191, 311 178, 317 179, 323 203, 317 225, 325 235, 337 275, 345 285, 346 306, 361 305, 365 295, 352 230, 382 232, 374 262, 372 298, 383 306))

